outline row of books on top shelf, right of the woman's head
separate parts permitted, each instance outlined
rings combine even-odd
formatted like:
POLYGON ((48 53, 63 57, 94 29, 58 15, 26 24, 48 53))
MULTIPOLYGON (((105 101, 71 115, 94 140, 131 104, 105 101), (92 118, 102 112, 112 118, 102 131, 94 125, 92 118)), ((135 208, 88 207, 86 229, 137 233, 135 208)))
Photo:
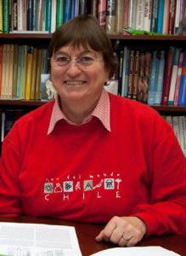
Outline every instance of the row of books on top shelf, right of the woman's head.
POLYGON ((123 28, 130 27, 176 34, 186 14, 185 6, 184 0, 92 0, 91 11, 108 33, 126 33, 123 28))

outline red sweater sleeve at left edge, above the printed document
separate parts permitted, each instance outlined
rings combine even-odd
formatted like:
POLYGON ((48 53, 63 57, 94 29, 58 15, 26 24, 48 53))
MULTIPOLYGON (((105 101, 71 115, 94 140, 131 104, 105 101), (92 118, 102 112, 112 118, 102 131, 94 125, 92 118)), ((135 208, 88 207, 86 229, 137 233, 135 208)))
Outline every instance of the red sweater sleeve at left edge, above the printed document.
POLYGON ((19 182, 21 154, 18 148, 20 148, 18 132, 14 125, 3 140, 0 160, 0 216, 22 215, 19 182))

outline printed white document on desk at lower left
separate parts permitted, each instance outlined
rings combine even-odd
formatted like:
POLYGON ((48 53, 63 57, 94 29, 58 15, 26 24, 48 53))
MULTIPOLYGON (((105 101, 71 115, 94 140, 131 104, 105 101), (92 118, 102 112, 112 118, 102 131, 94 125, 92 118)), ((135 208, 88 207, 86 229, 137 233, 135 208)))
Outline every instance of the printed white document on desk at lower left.
POLYGON ((74 227, 2 222, 0 255, 82 256, 82 253, 74 227))

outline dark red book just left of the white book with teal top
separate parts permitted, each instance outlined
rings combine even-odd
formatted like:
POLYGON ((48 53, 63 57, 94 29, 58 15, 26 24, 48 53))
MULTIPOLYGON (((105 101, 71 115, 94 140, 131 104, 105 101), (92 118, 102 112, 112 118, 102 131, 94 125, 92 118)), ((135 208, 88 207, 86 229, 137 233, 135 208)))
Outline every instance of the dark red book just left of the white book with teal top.
POLYGON ((174 47, 170 47, 166 52, 166 64, 165 73, 163 78, 163 91, 161 97, 161 104, 168 104, 169 91, 171 86, 172 78, 172 67, 173 67, 174 47))

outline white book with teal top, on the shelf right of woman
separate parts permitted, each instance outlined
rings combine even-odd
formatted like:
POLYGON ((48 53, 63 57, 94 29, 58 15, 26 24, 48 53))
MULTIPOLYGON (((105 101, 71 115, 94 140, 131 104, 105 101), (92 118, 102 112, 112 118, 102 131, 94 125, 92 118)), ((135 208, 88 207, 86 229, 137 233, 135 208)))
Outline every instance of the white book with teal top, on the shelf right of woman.
POLYGON ((174 93, 176 89, 176 82, 177 82, 177 75, 178 75, 179 54, 180 54, 180 48, 175 47, 174 57, 173 57, 173 66, 172 66, 172 78, 171 78, 171 85, 170 85, 170 91, 169 91, 169 97, 168 97, 168 105, 174 104, 174 93))

